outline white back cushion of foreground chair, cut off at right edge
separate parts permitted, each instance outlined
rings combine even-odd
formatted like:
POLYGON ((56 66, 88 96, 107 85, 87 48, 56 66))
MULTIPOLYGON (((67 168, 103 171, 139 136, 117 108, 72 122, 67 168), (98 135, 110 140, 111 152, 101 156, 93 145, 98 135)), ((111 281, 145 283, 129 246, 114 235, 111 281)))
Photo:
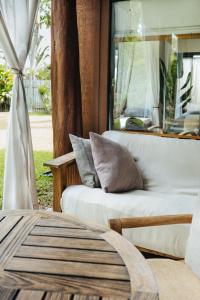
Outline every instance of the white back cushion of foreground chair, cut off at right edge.
POLYGON ((192 219, 185 262, 200 279, 200 210, 192 219))

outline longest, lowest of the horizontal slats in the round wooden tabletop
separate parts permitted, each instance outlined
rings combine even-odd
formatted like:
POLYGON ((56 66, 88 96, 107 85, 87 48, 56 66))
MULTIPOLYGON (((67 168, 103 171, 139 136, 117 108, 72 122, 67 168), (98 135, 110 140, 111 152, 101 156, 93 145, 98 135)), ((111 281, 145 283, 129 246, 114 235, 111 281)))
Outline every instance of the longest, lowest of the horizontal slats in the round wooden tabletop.
POLYGON ((126 267, 95 263, 75 263, 14 257, 5 270, 129 281, 126 267))

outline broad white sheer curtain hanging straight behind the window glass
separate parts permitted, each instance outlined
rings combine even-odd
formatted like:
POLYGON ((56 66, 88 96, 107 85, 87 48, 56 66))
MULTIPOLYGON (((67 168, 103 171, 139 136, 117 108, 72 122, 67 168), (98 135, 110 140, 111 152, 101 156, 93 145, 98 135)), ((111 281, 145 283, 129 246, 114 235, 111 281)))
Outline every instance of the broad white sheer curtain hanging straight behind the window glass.
POLYGON ((159 122, 159 41, 135 43, 133 70, 128 90, 127 108, 144 111, 155 125, 159 122))

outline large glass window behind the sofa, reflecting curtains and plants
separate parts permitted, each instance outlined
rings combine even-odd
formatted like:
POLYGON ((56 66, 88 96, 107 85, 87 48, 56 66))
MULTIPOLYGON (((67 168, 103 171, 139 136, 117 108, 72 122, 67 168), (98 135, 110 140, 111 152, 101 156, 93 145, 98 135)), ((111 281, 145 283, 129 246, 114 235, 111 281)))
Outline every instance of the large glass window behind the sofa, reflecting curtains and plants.
POLYGON ((113 1, 111 127, 200 134, 200 1, 113 1))

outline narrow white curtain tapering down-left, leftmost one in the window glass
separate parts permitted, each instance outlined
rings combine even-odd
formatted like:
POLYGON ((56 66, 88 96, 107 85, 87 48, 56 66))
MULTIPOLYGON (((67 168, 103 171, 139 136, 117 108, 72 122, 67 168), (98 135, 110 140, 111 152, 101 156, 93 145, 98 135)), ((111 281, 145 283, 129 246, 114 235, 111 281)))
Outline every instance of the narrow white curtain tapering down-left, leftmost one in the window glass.
POLYGON ((114 118, 120 117, 126 106, 134 59, 134 42, 120 42, 117 58, 117 84, 114 100, 114 118))

